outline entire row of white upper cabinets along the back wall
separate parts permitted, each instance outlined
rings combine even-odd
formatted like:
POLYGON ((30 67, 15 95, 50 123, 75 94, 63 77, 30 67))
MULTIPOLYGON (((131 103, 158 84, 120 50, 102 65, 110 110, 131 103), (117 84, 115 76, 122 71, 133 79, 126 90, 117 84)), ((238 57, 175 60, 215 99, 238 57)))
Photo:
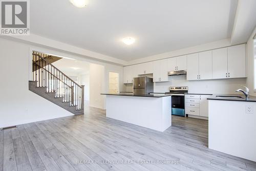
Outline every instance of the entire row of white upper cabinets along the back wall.
POLYGON ((187 80, 246 77, 245 44, 188 54, 123 68, 123 82, 152 74, 154 82, 168 81, 169 71, 187 71, 187 80))

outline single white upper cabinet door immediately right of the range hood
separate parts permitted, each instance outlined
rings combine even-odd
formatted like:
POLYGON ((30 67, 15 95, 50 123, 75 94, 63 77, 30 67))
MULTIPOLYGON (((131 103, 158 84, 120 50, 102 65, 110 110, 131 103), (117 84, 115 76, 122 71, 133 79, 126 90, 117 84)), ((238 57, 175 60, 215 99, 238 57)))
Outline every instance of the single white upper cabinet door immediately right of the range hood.
POLYGON ((199 75, 198 53, 187 55, 187 80, 197 80, 199 75))

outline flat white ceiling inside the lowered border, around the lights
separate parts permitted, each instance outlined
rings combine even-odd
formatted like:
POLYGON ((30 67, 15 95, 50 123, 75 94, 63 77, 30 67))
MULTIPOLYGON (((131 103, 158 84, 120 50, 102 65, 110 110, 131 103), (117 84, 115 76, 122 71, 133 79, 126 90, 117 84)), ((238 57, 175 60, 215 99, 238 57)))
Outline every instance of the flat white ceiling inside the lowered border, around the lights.
POLYGON ((236 0, 69 0, 31 2, 31 33, 122 60, 228 38, 236 0), (124 45, 121 38, 136 38, 124 45))

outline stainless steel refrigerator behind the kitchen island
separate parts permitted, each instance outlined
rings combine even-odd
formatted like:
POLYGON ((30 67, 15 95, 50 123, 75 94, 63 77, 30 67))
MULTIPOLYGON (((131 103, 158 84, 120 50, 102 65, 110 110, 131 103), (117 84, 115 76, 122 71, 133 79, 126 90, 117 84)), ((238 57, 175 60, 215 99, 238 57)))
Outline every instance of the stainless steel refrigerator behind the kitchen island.
POLYGON ((133 93, 144 95, 154 92, 153 78, 137 77, 133 79, 133 93))

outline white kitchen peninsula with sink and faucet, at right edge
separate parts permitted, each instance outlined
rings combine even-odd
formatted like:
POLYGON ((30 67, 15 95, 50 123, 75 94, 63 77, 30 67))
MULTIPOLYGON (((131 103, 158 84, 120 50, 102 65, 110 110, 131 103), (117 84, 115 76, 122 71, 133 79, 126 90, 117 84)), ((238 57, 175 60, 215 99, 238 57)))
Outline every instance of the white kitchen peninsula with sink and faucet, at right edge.
POLYGON ((222 94, 207 99, 209 148, 256 162, 256 97, 222 94))

